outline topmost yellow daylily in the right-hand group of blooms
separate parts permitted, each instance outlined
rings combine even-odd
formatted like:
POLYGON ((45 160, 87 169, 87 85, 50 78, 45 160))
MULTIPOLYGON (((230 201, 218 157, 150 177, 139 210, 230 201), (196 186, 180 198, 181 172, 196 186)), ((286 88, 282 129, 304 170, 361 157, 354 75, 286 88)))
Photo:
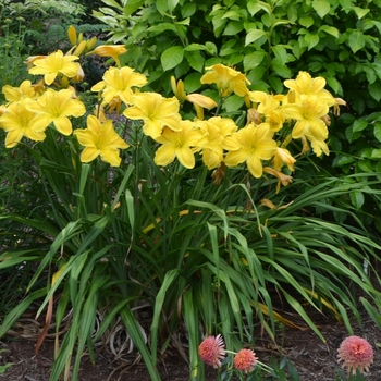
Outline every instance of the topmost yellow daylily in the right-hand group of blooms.
POLYGON ((284 81, 284 86, 294 90, 296 98, 300 95, 314 95, 320 100, 324 100, 330 107, 335 103, 335 99, 330 91, 324 89, 325 84, 327 82, 323 77, 312 78, 307 72, 299 72, 296 79, 284 81))

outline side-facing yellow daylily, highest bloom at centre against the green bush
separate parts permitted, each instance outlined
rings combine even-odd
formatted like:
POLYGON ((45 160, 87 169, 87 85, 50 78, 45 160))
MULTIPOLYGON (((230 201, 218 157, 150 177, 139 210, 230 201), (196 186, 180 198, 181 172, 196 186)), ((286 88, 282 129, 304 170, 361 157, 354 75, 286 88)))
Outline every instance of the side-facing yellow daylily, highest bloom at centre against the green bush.
POLYGON ((209 72, 201 76, 201 84, 216 84, 221 97, 228 97, 232 93, 235 93, 239 97, 247 95, 248 89, 246 84, 249 85, 250 82, 241 72, 222 63, 206 69, 209 72))

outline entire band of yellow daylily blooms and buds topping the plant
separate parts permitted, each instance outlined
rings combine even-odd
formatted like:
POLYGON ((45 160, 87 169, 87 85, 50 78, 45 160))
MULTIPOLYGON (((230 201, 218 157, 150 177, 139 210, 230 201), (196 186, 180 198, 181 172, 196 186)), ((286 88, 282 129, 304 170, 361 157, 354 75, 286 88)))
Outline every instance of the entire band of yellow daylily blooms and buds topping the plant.
MULTIPOLYGON (((296 79, 284 82, 287 95, 269 95, 250 90, 246 76, 232 67, 216 64, 207 67, 201 84, 216 86, 220 105, 202 94, 186 95, 181 81, 171 81, 175 94, 165 98, 157 93, 144 91, 148 79, 133 69, 121 67, 119 56, 124 46, 98 46, 94 39, 76 37, 75 29, 69 29, 70 40, 76 42, 64 54, 58 50, 49 56, 30 57, 27 60, 29 73, 42 75, 44 79, 32 84, 24 81, 20 87, 4 86, 8 101, 1 107, 0 128, 7 133, 5 147, 15 147, 23 137, 44 142, 47 128, 53 128, 64 136, 74 135, 84 150, 82 162, 97 157, 112 167, 121 164, 120 151, 130 144, 114 131, 111 119, 105 110, 123 113, 131 121, 142 123, 143 133, 157 144, 153 161, 165 167, 179 160, 186 169, 193 169, 197 158, 213 170, 214 183, 223 176, 216 173, 223 168, 246 164, 249 173, 259 179, 266 174, 281 185, 292 182, 296 158, 287 149, 293 139, 302 142, 302 153, 312 149, 317 156, 329 155, 327 146, 330 108, 337 110, 345 103, 324 89, 325 79, 314 78, 307 72, 299 72, 296 79), (78 62, 82 54, 110 57, 116 62, 103 74, 101 82, 91 90, 99 96, 99 106, 87 116, 86 128, 75 128, 71 119, 88 113, 84 102, 76 95, 75 84, 84 78, 78 62), (220 114, 224 99, 234 94, 244 98, 247 106, 246 123, 220 114), (182 107, 190 102, 197 116, 184 119, 182 107), (214 112, 210 110, 217 110, 214 112), (205 110, 212 116, 204 119, 205 110), (283 171, 285 173, 283 173, 283 171)), ((299 153, 298 153, 299 155, 299 153)))

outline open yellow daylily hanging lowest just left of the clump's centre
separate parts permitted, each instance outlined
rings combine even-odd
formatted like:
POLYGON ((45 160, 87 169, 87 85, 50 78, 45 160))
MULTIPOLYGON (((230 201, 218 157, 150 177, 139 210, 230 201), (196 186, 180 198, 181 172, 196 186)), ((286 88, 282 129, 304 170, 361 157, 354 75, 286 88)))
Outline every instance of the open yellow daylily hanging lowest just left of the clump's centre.
POLYGON ((202 133, 199 128, 195 128, 190 121, 181 121, 180 127, 181 130, 173 131, 165 126, 160 137, 156 139, 161 144, 153 158, 157 165, 165 167, 177 158, 183 167, 187 169, 195 167, 194 147, 202 133))

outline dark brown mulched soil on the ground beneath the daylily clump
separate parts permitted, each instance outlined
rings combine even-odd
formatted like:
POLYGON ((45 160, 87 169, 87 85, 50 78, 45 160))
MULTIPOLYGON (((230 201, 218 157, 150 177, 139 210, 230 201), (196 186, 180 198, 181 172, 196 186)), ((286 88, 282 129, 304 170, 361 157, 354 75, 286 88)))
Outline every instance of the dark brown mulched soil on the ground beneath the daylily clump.
MULTIPOLYGON (((316 323, 327 340, 324 344, 311 330, 298 330, 285 328, 279 334, 279 345, 272 344, 269 340, 258 339, 254 351, 261 362, 271 366, 272 360, 280 361, 286 356, 295 366, 302 381, 330 381, 335 379, 335 369, 340 368, 336 358, 336 351, 341 342, 348 335, 343 324, 332 319, 322 319, 317 316, 316 323)), ((369 381, 381 380, 381 331, 365 317, 362 329, 353 324, 355 334, 369 341, 374 351, 374 361, 370 367, 366 379, 369 381)), ((26 339, 4 340, 0 342, 0 349, 7 349, 0 354, 0 366, 13 362, 5 373, 0 374, 0 381, 47 381, 49 369, 52 364, 53 342, 47 339, 39 354, 35 355, 36 340, 26 339)), ((185 348, 186 352, 186 348, 185 348)), ((111 352, 99 348, 96 355, 96 364, 93 365, 87 355, 84 355, 81 365, 81 381, 148 381, 149 374, 139 360, 137 354, 127 362, 115 359, 111 352), (137 357, 136 357, 137 356, 137 357), (135 364, 134 364, 135 362, 135 364)), ((189 379, 188 366, 179 351, 173 347, 159 357, 158 370, 163 381, 185 381, 189 379)), ((216 371, 207 367, 207 381, 216 380, 216 371)))

